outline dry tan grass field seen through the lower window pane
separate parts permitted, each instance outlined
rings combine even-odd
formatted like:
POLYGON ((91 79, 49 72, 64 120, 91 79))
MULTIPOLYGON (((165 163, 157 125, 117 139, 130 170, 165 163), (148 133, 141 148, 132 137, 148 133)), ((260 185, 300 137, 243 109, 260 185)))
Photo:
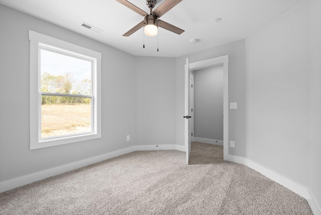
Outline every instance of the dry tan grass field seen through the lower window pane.
POLYGON ((87 132, 91 130, 90 104, 41 105, 41 137, 87 132))

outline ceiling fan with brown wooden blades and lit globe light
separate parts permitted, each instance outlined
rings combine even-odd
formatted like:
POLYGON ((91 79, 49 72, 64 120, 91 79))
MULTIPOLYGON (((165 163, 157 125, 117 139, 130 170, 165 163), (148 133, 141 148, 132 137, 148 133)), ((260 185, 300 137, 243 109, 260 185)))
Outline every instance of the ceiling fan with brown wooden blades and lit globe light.
POLYGON ((144 12, 143 10, 139 9, 138 7, 134 6, 133 4, 131 4, 126 0, 116 0, 116 1, 144 17, 143 21, 138 23, 136 26, 134 26, 132 29, 127 31, 122 36, 128 37, 132 35, 134 32, 136 32, 138 29, 140 29, 141 27, 144 27, 144 33, 147 36, 155 36, 157 34, 158 27, 164 28, 176 34, 182 34, 184 32, 184 30, 178 27, 175 27, 167 22, 164 22, 163 20, 159 20, 161 16, 163 16, 165 13, 167 13, 169 10, 174 8, 177 4, 179 4, 183 0, 166 0, 162 5, 156 8, 154 11, 152 11, 152 9, 156 5, 156 0, 146 0, 146 5, 149 8, 149 14, 147 14, 146 12, 144 12))

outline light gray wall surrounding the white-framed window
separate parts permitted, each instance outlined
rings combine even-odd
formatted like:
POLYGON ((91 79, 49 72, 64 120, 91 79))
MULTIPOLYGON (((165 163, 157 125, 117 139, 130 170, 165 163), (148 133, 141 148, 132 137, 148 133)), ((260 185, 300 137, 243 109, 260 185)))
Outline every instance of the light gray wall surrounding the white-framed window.
POLYGON ((134 56, 3 5, 0 17, 0 181, 135 144, 134 56), (29 149, 29 29, 102 53, 102 138, 29 149))

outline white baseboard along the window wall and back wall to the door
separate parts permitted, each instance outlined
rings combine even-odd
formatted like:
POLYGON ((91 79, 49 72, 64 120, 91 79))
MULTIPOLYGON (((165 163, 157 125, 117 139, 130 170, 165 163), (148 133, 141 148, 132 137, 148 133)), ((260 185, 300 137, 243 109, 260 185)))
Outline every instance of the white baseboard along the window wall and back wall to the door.
POLYGON ((145 150, 179 150, 185 152, 185 146, 169 144, 169 145, 138 145, 131 146, 124 149, 109 152, 96 157, 88 158, 85 160, 76 161, 73 163, 65 164, 62 166, 46 169, 40 172, 35 172, 29 175, 24 175, 18 178, 13 178, 7 181, 0 182, 0 193, 5 192, 26 184, 30 184, 35 181, 39 181, 45 178, 49 178, 55 175, 59 175, 68 171, 72 171, 90 164, 94 164, 100 161, 104 161, 113 157, 117 157, 123 154, 127 154, 134 151, 145 151, 145 150))

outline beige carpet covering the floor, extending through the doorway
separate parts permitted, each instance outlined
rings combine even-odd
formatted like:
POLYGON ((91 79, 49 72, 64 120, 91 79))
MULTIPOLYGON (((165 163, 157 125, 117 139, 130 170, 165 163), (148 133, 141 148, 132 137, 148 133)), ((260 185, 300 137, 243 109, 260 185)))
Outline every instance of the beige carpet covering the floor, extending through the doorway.
POLYGON ((307 201, 223 147, 139 151, 0 193, 0 214, 312 214, 307 201))

